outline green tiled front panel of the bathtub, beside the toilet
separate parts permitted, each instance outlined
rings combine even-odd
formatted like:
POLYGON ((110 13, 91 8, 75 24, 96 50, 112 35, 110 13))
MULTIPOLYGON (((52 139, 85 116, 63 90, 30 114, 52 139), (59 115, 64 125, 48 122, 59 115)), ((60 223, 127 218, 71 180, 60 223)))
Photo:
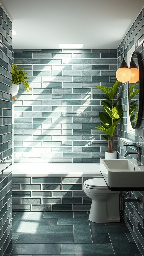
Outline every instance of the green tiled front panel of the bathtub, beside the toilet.
POLYGON ((92 178, 97 177, 13 177, 13 210, 90 210, 92 200, 83 184, 92 178))

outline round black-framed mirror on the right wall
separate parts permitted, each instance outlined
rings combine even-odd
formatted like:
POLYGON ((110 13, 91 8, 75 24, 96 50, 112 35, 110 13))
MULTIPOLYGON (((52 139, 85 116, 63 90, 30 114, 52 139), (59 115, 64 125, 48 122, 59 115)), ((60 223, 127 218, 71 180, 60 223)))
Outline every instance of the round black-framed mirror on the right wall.
POLYGON ((134 51, 130 61, 132 77, 129 80, 129 114, 133 129, 138 129, 142 115, 143 70, 140 54, 134 51))

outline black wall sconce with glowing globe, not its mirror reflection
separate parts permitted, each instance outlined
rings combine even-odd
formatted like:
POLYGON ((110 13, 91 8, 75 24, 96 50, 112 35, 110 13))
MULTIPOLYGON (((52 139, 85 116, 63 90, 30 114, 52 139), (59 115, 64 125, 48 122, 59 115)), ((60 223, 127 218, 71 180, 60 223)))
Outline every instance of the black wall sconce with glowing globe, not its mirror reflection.
POLYGON ((128 68, 128 65, 125 61, 125 53, 122 52, 122 54, 124 54, 124 58, 122 60, 122 63, 120 65, 119 69, 116 72, 116 78, 121 83, 127 83, 131 79, 132 72, 128 68))

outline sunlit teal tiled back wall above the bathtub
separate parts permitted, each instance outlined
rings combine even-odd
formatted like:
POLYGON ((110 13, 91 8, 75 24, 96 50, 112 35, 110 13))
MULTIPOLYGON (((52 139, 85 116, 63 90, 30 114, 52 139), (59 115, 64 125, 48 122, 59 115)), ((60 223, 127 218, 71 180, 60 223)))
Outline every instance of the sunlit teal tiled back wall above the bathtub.
POLYGON ((116 81, 117 50, 21 49, 13 57, 31 87, 20 85, 13 101, 14 162, 100 162, 107 144, 95 129, 103 110, 95 85, 116 81))

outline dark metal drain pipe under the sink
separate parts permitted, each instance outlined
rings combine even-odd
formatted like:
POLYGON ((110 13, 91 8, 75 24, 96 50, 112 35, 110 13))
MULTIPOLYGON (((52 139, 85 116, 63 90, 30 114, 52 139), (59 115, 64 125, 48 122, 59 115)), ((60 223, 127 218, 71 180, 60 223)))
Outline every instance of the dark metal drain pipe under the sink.
POLYGON ((120 198, 119 199, 120 199, 119 200, 120 210, 122 210, 122 211, 124 210, 125 202, 138 202, 139 204, 141 203, 140 197, 138 197, 137 199, 131 199, 130 198, 130 191, 127 191, 126 195, 124 194, 124 191, 120 191, 120 198))

